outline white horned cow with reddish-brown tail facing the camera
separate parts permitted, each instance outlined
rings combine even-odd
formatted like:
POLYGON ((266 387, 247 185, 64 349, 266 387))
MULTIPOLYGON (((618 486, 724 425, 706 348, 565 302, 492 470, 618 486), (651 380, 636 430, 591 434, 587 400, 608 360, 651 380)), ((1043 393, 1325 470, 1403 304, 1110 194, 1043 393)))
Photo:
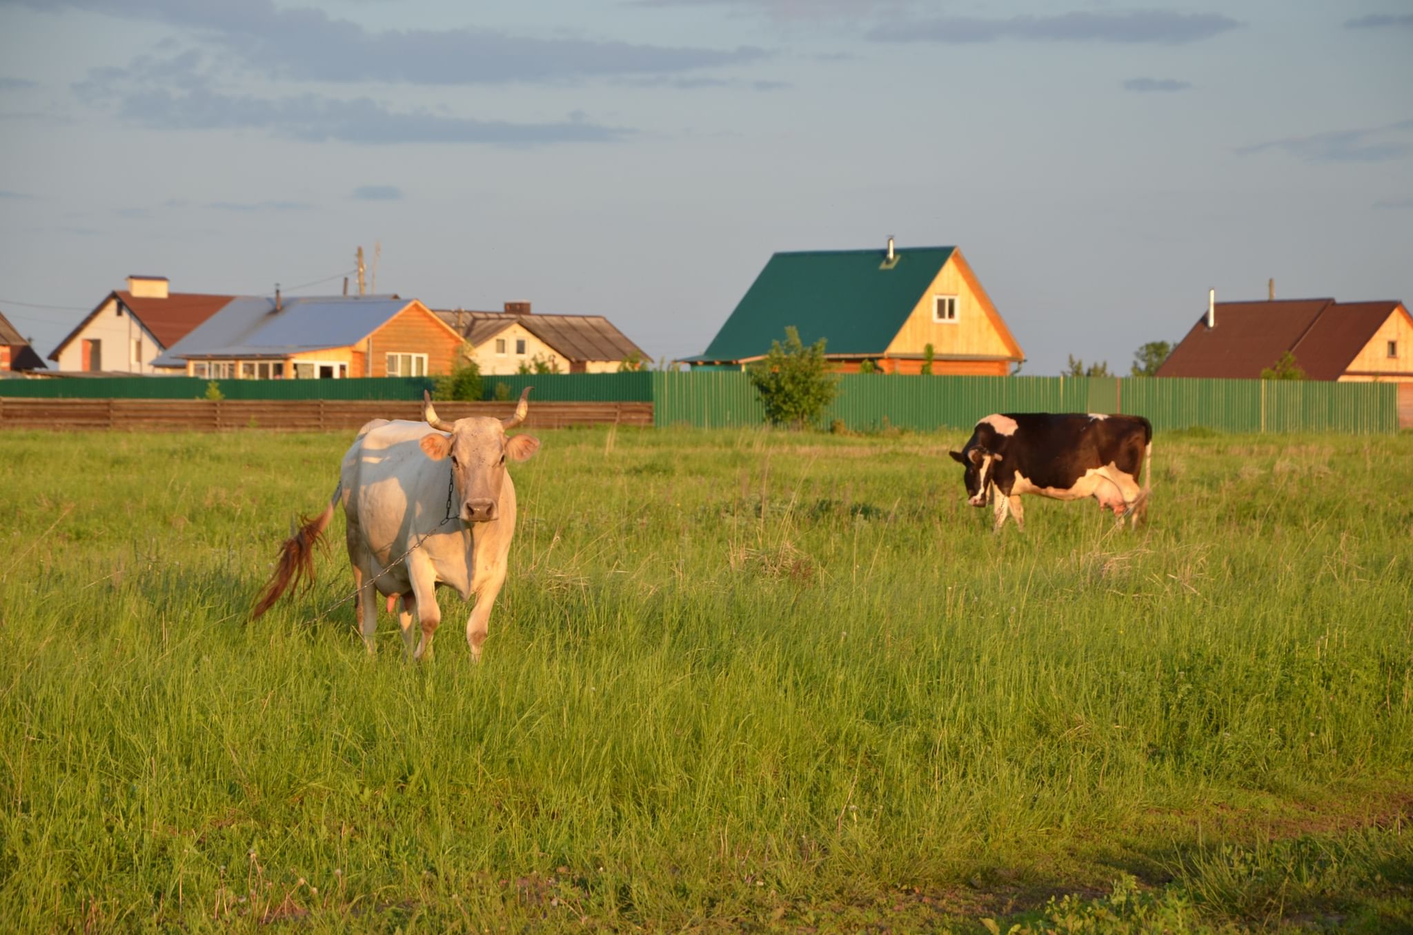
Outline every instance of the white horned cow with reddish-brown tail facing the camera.
POLYGON ((424 394, 425 422, 373 419, 343 455, 329 506, 305 520, 283 545, 280 562, 252 617, 270 609, 300 578, 314 576, 314 545, 342 500, 349 562, 357 589, 363 640, 373 653, 377 605, 373 592, 401 596, 398 623, 413 658, 430 658, 441 623, 437 586, 476 596, 466 620, 473 660, 486 641, 490 607, 506 580, 516 531, 516 484, 506 459, 527 460, 540 449, 533 435, 506 435, 524 422, 530 387, 507 419, 472 417, 445 422, 424 394), (421 641, 413 651, 413 614, 421 641))

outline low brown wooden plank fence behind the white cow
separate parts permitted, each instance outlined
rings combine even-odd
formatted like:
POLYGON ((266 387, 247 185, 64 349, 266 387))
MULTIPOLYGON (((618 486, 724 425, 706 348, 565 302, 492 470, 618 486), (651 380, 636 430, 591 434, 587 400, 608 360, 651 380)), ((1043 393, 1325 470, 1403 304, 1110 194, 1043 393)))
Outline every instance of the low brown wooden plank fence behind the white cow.
MULTIPOLYGON (((504 418, 514 403, 438 403, 445 419, 504 418)), ((422 418, 422 404, 396 400, 45 400, 0 397, 0 428, 119 431, 357 429, 369 419, 422 418)), ((526 428, 653 425, 651 403, 530 403, 526 428)))

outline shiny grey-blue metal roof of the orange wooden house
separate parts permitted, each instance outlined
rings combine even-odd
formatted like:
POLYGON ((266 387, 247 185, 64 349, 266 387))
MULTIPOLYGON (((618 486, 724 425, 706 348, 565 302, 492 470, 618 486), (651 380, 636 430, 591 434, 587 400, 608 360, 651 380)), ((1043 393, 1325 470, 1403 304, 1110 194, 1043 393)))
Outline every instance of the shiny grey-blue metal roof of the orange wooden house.
POLYGON ((389 295, 237 298, 153 362, 182 367, 194 357, 284 357, 308 350, 348 347, 383 326, 417 299, 389 295))

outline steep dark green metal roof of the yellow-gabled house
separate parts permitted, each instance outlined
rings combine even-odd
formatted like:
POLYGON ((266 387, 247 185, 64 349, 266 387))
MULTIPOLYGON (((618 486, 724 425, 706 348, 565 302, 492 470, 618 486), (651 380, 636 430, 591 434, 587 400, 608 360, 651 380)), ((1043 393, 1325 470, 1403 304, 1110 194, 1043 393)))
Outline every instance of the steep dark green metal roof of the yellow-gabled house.
POLYGON ((831 355, 882 355, 955 247, 777 253, 760 271, 711 346, 688 360, 759 357, 786 328, 825 339, 831 355))

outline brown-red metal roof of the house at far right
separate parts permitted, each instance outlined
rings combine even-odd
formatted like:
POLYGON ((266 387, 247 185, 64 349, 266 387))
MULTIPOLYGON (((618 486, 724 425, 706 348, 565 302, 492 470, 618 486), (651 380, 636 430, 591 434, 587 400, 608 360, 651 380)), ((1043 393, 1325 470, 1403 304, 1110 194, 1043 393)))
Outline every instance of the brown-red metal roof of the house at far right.
POLYGON ((1313 380, 1335 380, 1400 304, 1332 298, 1217 302, 1159 367, 1160 377, 1256 380, 1287 350, 1313 380))

